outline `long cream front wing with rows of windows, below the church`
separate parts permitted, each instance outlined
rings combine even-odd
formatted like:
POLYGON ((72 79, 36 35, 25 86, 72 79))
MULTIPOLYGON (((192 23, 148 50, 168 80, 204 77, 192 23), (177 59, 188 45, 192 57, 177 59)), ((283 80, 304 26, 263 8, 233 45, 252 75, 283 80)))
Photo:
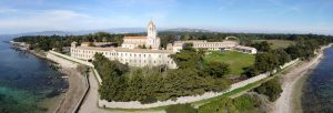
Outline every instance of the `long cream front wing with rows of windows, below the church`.
POLYGON ((176 69, 174 61, 169 58, 172 51, 169 50, 150 50, 150 49, 125 49, 125 48, 97 48, 79 45, 73 42, 71 45, 71 56, 85 61, 93 60, 95 53, 102 53, 110 60, 118 60, 121 63, 131 66, 158 66, 167 65, 170 69, 176 69))

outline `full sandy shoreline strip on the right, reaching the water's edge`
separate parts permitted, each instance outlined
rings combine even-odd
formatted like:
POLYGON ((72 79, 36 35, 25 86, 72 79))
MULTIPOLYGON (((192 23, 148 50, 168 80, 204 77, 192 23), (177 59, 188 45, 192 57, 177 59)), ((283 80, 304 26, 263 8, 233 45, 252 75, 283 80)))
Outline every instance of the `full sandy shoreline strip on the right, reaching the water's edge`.
POLYGON ((332 47, 332 43, 320 49, 319 53, 311 61, 303 61, 290 72, 284 74, 281 96, 273 103, 272 113, 299 113, 302 112, 301 96, 303 83, 307 73, 316 68, 324 56, 323 50, 332 47))

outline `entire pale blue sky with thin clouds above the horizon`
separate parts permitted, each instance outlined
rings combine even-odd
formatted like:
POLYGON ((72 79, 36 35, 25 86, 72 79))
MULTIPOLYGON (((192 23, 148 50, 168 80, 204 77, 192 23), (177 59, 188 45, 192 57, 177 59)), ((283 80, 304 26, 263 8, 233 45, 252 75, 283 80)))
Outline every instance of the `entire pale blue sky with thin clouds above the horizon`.
POLYGON ((333 0, 0 0, 0 34, 144 28, 333 34, 333 0))

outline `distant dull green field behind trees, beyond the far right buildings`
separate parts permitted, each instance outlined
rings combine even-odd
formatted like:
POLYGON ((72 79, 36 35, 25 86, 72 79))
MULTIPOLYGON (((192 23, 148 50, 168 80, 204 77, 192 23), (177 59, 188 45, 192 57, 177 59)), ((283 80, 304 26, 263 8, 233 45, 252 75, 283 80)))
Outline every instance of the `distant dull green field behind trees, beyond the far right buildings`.
POLYGON ((279 48, 287 48, 290 44, 294 44, 295 42, 290 40, 254 40, 254 42, 262 42, 268 41, 269 43, 272 43, 272 49, 279 49, 279 48))

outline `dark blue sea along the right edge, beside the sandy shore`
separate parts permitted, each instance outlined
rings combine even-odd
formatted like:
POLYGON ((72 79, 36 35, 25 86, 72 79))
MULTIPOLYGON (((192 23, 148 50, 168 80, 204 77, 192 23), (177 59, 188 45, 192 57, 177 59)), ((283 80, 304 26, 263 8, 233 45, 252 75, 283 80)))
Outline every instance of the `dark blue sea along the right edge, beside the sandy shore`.
POLYGON ((325 58, 317 65, 303 88, 304 113, 333 113, 333 48, 325 50, 325 58))

